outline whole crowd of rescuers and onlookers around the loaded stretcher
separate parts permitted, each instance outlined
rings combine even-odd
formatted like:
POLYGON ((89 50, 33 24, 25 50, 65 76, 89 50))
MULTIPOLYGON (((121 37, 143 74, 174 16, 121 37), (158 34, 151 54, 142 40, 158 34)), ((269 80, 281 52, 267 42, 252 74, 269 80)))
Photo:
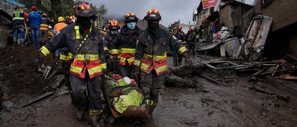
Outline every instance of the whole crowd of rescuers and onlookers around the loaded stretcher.
MULTIPOLYGON (((139 84, 143 105, 149 117, 158 104, 159 89, 165 82, 167 67, 167 49, 174 53, 174 66, 181 65, 182 57, 185 64, 192 66, 192 60, 186 46, 194 52, 196 34, 191 29, 188 41, 182 28, 174 29, 174 33, 159 28, 160 12, 151 9, 144 17, 148 23, 146 30, 137 27, 138 17, 129 12, 124 16, 124 26, 115 19, 109 22, 109 32, 105 35, 93 26, 95 12, 85 3, 75 7, 72 17, 59 17, 53 27, 54 36, 48 40, 48 27, 53 24, 47 14, 39 14, 35 6, 27 14, 26 8, 19 6, 13 15, 14 43, 17 35, 21 36, 19 45, 24 44, 24 27, 29 24, 33 45, 42 46, 34 59, 34 66, 39 68, 45 57, 51 52, 61 51, 59 68, 63 70, 66 84, 69 88, 72 104, 78 109, 77 118, 83 120, 85 112, 88 121, 93 126, 101 126, 102 102, 100 89, 105 76, 113 64, 114 71, 122 77, 128 77, 139 84), (29 17, 28 17, 29 15, 29 17), (27 20, 28 19, 28 20, 27 20), (41 44, 45 37, 45 45, 41 44), (178 60, 176 60, 178 57, 178 60)), ((195 55, 195 53, 190 53, 195 55)), ((113 117, 113 116, 110 116, 113 117)))

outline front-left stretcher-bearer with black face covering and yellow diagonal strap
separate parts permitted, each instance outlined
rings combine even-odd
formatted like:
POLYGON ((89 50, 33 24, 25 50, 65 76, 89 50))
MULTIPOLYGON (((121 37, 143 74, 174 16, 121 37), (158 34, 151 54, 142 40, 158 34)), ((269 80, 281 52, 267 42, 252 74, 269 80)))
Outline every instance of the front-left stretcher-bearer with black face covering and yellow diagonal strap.
POLYGON ((82 3, 74 6, 77 22, 60 30, 47 42, 34 59, 34 65, 39 67, 45 56, 58 48, 67 47, 69 51, 70 84, 72 103, 78 108, 78 120, 83 120, 88 109, 87 118, 93 126, 101 127, 102 116, 100 87, 102 74, 106 72, 102 35, 92 26, 91 19, 95 12, 89 5, 82 3), (88 93, 86 93, 88 92, 88 93), (88 95, 87 95, 88 94, 88 95))

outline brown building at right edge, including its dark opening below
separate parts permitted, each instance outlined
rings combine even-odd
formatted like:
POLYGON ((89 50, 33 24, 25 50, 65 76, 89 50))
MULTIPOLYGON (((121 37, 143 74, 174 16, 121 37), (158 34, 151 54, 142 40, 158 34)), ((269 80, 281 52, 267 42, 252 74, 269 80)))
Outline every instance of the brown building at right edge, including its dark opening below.
POLYGON ((297 2, 256 0, 255 11, 273 18, 264 47, 264 56, 274 58, 289 53, 297 57, 297 2))

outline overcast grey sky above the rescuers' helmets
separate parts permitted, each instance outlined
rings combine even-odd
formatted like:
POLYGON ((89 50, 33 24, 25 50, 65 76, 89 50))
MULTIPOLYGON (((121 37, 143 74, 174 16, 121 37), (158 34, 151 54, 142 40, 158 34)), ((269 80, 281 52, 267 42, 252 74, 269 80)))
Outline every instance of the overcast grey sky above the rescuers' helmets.
MULTIPOLYGON (((246 0, 247 4, 252 4, 254 0, 246 0)), ((161 16, 162 25, 168 27, 170 23, 181 20, 181 23, 193 25, 192 14, 195 4, 198 6, 200 0, 90 0, 99 7, 103 3, 108 8, 106 18, 119 19, 129 12, 135 13, 139 19, 143 19, 149 9, 157 9, 161 16)))

